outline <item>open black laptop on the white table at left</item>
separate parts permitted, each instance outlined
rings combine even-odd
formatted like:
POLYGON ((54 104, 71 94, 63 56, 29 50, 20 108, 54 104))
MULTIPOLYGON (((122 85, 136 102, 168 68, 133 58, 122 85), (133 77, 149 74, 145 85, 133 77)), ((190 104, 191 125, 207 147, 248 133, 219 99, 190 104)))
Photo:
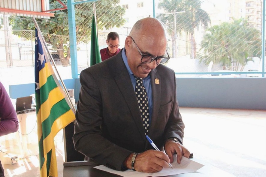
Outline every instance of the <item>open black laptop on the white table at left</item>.
POLYGON ((35 108, 32 108, 32 96, 17 98, 16 102, 17 114, 27 113, 30 111, 35 111, 35 108))

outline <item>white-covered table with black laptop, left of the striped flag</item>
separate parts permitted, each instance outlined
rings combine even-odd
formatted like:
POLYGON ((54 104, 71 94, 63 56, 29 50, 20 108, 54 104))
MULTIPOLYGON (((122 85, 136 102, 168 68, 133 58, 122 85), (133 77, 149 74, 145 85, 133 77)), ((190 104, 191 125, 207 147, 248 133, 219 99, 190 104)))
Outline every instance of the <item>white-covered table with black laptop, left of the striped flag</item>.
POLYGON ((17 98, 16 112, 20 125, 20 138, 23 151, 23 157, 28 157, 35 154, 28 144, 38 144, 37 135, 37 116, 35 105, 33 104, 32 96, 25 96, 17 98))

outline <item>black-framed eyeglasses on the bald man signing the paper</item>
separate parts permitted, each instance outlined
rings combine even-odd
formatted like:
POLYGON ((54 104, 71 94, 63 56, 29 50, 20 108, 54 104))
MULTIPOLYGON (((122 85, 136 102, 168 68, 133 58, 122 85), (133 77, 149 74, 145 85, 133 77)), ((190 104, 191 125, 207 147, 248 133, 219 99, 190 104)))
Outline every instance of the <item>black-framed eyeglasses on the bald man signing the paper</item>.
MULTIPOLYGON (((131 37, 131 39, 135 43, 135 41, 134 41, 134 39, 132 37, 131 37)), ((138 48, 136 43, 135 43, 135 46, 138 49, 138 52, 141 54, 141 62, 142 63, 151 63, 151 62, 153 62, 153 60, 156 60, 156 64, 164 64, 170 59, 167 50, 165 50, 166 53, 165 53, 165 55, 163 57, 154 57, 154 56, 151 56, 151 55, 144 55, 141 52, 141 50, 138 48)))

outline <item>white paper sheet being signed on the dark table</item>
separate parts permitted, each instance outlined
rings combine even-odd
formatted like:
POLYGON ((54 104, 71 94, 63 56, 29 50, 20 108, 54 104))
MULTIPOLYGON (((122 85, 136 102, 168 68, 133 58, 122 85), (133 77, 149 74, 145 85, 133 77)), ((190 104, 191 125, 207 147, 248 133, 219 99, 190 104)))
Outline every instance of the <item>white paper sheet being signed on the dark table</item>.
POLYGON ((120 176, 124 177, 147 177, 147 176, 168 176, 168 175, 176 175, 176 174, 182 174, 182 173, 192 173, 203 167, 204 165, 192 161, 188 158, 182 157, 181 163, 177 163, 176 156, 174 157, 174 162, 172 163, 173 169, 171 168, 164 168, 162 171, 157 172, 157 173, 142 173, 142 172, 137 172, 133 170, 126 170, 126 171, 117 171, 117 170, 112 170, 108 167, 105 167, 103 165, 94 167, 99 170, 107 171, 109 173, 114 173, 120 176))

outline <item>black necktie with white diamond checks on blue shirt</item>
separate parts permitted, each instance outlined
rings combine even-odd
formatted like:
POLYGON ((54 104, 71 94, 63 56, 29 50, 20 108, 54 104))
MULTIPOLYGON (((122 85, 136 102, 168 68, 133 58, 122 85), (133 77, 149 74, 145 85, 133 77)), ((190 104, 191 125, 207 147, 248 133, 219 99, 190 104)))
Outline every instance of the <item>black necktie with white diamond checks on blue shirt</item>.
POLYGON ((149 106, 148 106, 148 96, 145 90, 145 87, 143 86, 142 78, 138 78, 135 76, 135 79, 137 81, 136 87, 135 87, 135 93, 138 100, 138 106, 141 111, 141 118, 144 126, 145 135, 148 134, 149 131, 149 106))

